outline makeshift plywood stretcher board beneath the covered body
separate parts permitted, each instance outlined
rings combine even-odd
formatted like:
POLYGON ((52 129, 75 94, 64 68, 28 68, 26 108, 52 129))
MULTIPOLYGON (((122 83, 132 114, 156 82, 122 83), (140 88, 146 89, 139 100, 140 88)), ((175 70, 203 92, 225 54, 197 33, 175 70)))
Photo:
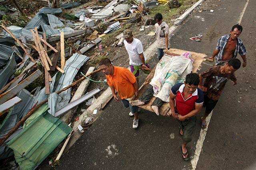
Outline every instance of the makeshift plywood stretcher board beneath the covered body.
MULTIPOLYGON (((165 55, 179 56, 179 55, 182 55, 184 52, 189 52, 192 55, 192 59, 194 60, 193 72, 197 72, 198 70, 200 70, 202 61, 206 60, 206 59, 204 59, 204 57, 207 56, 206 54, 195 53, 192 51, 184 51, 184 50, 180 50, 180 49, 169 49, 168 51, 165 51, 165 55)), ((138 98, 140 98, 142 93, 148 87, 148 84, 150 83, 151 79, 153 78, 155 70, 156 70, 156 66, 150 72, 150 74, 148 74, 148 76, 145 79, 145 82, 140 86, 139 92, 138 92, 138 95, 136 96, 136 98, 133 98, 132 100, 137 100, 138 98)), ((141 107, 142 109, 146 109, 148 111, 154 112, 154 110, 151 108, 151 104, 154 102, 154 100, 155 100, 155 97, 153 96, 147 104, 140 105, 138 107, 141 107)), ((160 113, 160 115, 163 115, 163 116, 170 116, 171 111, 170 111, 169 103, 164 102, 164 104, 159 108, 159 113, 160 113)))

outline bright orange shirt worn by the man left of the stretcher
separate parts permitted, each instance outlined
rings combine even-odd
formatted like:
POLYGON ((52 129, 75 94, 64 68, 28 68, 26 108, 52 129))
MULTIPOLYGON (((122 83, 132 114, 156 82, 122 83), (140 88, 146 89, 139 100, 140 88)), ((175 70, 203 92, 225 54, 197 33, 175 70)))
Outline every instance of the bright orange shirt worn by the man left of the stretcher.
POLYGON ((127 68, 114 66, 113 76, 106 75, 106 78, 108 85, 114 86, 121 99, 131 98, 135 94, 133 84, 136 78, 127 68))

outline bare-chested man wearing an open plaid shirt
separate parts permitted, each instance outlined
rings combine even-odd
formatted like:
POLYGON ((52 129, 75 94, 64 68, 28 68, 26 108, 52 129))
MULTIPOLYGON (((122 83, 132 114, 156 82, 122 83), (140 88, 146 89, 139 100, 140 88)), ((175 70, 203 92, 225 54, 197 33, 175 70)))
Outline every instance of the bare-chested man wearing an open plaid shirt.
POLYGON ((212 56, 209 58, 210 62, 213 62, 216 57, 216 63, 214 65, 223 65, 228 60, 236 58, 239 53, 243 59, 242 66, 246 66, 246 48, 244 47, 243 41, 238 38, 242 33, 243 27, 241 25, 234 25, 230 31, 230 35, 223 35, 220 37, 217 43, 217 47, 214 49, 212 56))

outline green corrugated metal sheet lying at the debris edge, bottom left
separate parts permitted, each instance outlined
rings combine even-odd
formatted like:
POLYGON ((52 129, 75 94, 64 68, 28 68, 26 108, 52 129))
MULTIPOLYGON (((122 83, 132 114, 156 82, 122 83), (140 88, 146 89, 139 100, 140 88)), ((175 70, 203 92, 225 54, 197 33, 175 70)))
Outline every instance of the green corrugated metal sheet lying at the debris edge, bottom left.
POLYGON ((14 157, 21 170, 32 170, 38 166, 71 132, 71 128, 40 107, 38 117, 28 123, 16 137, 7 143, 14 150, 14 157))

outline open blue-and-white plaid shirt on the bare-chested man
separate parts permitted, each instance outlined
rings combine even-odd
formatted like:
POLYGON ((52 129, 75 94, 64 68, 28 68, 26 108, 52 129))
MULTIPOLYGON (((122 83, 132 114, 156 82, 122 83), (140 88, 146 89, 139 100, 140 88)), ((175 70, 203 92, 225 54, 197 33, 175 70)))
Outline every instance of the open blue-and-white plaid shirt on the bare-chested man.
MULTIPOLYGON (((228 39, 229 39, 230 35, 223 35, 222 37, 220 37, 220 39, 218 40, 218 43, 217 43, 217 47, 216 49, 217 50, 220 50, 219 53, 217 54, 216 56, 216 64, 219 64, 220 61, 222 60, 222 56, 223 56, 223 53, 225 51, 225 47, 226 47, 226 44, 228 42, 228 39)), ((240 39, 240 38, 237 38, 237 42, 236 42, 236 50, 234 51, 234 55, 233 55, 233 58, 236 58, 237 54, 240 54, 241 56, 242 55, 245 55, 247 53, 247 50, 246 48, 244 47, 244 43, 243 41, 240 39)))

